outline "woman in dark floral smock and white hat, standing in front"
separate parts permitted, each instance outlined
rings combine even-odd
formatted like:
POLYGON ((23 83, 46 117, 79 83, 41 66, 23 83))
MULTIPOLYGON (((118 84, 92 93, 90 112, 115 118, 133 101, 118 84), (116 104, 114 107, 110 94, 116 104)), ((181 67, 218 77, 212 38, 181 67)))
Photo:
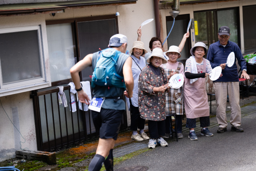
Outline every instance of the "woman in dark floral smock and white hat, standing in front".
POLYGON ((142 119, 148 119, 150 141, 148 148, 155 148, 158 143, 162 147, 168 146, 163 139, 165 135, 165 93, 169 91, 167 75, 162 63, 167 63, 163 50, 155 48, 148 57, 149 63, 142 69, 139 81, 139 110, 142 119))

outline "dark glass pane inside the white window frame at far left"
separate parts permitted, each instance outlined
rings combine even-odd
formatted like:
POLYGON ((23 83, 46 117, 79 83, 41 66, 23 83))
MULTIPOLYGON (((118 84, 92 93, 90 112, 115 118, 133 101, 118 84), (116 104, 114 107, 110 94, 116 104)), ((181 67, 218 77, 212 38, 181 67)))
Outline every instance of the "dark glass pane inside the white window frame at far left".
POLYGON ((3 85, 42 78, 38 31, 0 34, 3 85))

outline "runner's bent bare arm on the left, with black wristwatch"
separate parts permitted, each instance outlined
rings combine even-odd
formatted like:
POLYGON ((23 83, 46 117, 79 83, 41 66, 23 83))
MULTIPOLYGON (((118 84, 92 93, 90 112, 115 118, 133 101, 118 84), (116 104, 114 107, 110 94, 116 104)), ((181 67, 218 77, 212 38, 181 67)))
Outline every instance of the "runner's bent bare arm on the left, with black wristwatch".
MULTIPOLYGON (((92 65, 92 54, 89 54, 89 55, 86 55, 82 60, 80 60, 78 63, 76 63, 76 65, 74 65, 70 69, 70 75, 73 80, 73 83, 75 84, 76 89, 81 88, 79 72, 91 65, 92 65)), ((90 101, 89 97, 83 90, 78 91, 78 99, 81 103, 85 103, 87 105, 89 104, 89 101, 90 101)))

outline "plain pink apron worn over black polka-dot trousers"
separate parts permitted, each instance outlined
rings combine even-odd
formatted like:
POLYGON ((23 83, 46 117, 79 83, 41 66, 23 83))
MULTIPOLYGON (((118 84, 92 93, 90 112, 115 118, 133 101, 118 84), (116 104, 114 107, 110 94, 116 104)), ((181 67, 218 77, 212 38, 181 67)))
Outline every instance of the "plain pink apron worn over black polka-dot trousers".
MULTIPOLYGON (((197 71, 206 72, 206 60, 204 65, 197 65, 197 71)), ((185 78, 184 83, 184 105, 186 117, 193 119, 203 116, 210 116, 208 97, 206 93, 205 78, 198 78, 190 84, 190 79, 185 78)))

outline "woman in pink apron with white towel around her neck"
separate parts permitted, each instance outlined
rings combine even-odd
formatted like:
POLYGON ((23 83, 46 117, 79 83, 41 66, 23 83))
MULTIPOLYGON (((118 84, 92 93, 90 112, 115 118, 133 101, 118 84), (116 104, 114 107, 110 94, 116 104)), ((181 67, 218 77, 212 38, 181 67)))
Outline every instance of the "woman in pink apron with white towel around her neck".
POLYGON ((194 128, 196 128, 196 118, 200 118, 201 135, 213 136, 207 126, 210 126, 210 112, 206 93, 205 78, 211 73, 209 60, 203 58, 206 54, 206 45, 197 42, 191 48, 189 59, 185 66, 184 83, 184 105, 187 117, 186 127, 190 129, 188 138, 198 140, 194 128))

